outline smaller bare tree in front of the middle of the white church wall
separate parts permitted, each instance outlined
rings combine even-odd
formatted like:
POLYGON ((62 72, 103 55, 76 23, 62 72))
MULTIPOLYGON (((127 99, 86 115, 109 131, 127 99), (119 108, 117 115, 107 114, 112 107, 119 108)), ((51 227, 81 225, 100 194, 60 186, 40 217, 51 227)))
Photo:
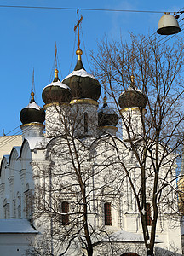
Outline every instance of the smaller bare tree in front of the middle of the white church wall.
MULTIPOLYGON (((109 236, 104 222, 106 226, 112 225, 111 212, 104 219, 104 205, 107 202, 116 209, 115 188, 119 191, 123 186, 124 173, 118 172, 117 142, 108 135, 100 140, 88 136, 78 139, 74 135, 82 127, 85 109, 81 112, 81 108, 67 108, 66 113, 65 105, 53 104, 53 113, 54 110, 56 115, 52 115, 47 129, 48 134, 57 136, 43 138, 39 147, 45 148, 44 160, 32 161, 32 221, 43 231, 43 237, 32 243, 27 254, 78 255, 83 250, 93 255, 94 247, 98 246, 96 241, 109 236)), ((88 121, 88 128, 92 125, 97 130, 94 120, 88 121)))

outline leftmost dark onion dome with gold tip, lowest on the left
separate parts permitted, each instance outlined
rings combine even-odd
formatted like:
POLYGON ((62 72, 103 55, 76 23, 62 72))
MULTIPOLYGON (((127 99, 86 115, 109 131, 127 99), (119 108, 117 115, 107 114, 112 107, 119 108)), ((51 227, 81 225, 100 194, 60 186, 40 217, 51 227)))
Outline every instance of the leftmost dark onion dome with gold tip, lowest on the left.
POLYGON ((30 123, 41 123, 45 120, 45 112, 34 100, 34 92, 31 93, 32 99, 26 108, 20 111, 20 121, 23 125, 30 123))

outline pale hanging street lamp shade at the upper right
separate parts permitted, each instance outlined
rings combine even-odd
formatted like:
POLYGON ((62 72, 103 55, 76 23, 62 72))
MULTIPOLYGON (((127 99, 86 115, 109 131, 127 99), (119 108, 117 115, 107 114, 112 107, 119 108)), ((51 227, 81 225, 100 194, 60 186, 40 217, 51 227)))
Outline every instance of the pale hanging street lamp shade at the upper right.
POLYGON ((158 34, 160 35, 172 35, 181 31, 175 16, 166 13, 158 22, 158 34))

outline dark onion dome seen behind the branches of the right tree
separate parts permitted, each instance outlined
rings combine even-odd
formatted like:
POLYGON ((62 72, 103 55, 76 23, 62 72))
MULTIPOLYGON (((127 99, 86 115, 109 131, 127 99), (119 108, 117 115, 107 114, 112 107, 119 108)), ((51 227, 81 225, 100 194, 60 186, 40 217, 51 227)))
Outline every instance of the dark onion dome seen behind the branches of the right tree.
POLYGON ((146 96, 139 90, 134 83, 134 76, 131 76, 131 84, 118 99, 120 108, 145 108, 147 105, 146 96))

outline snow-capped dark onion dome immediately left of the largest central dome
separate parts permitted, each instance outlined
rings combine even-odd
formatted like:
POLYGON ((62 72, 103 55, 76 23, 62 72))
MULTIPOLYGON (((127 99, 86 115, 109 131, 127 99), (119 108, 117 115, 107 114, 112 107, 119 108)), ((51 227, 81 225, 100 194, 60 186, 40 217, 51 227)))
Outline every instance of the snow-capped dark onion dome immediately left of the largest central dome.
POLYGON ((53 82, 44 87, 42 98, 45 104, 71 101, 71 90, 66 84, 60 82, 57 69, 55 69, 53 82))

